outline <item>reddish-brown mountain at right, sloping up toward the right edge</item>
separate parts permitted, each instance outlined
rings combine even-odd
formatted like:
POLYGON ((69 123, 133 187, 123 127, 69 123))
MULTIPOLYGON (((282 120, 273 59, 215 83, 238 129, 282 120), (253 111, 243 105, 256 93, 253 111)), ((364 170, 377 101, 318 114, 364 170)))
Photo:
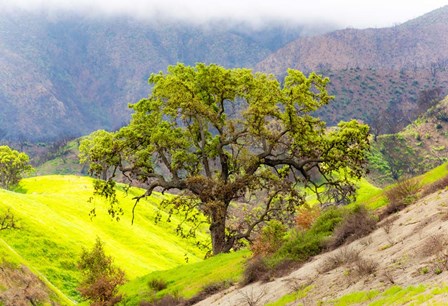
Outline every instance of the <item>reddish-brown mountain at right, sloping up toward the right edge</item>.
POLYGON ((336 101, 320 113, 330 124, 386 116, 384 131, 397 131, 424 111, 428 91, 447 93, 448 6, 391 28, 299 38, 257 65, 277 75, 287 68, 330 76, 336 101))

